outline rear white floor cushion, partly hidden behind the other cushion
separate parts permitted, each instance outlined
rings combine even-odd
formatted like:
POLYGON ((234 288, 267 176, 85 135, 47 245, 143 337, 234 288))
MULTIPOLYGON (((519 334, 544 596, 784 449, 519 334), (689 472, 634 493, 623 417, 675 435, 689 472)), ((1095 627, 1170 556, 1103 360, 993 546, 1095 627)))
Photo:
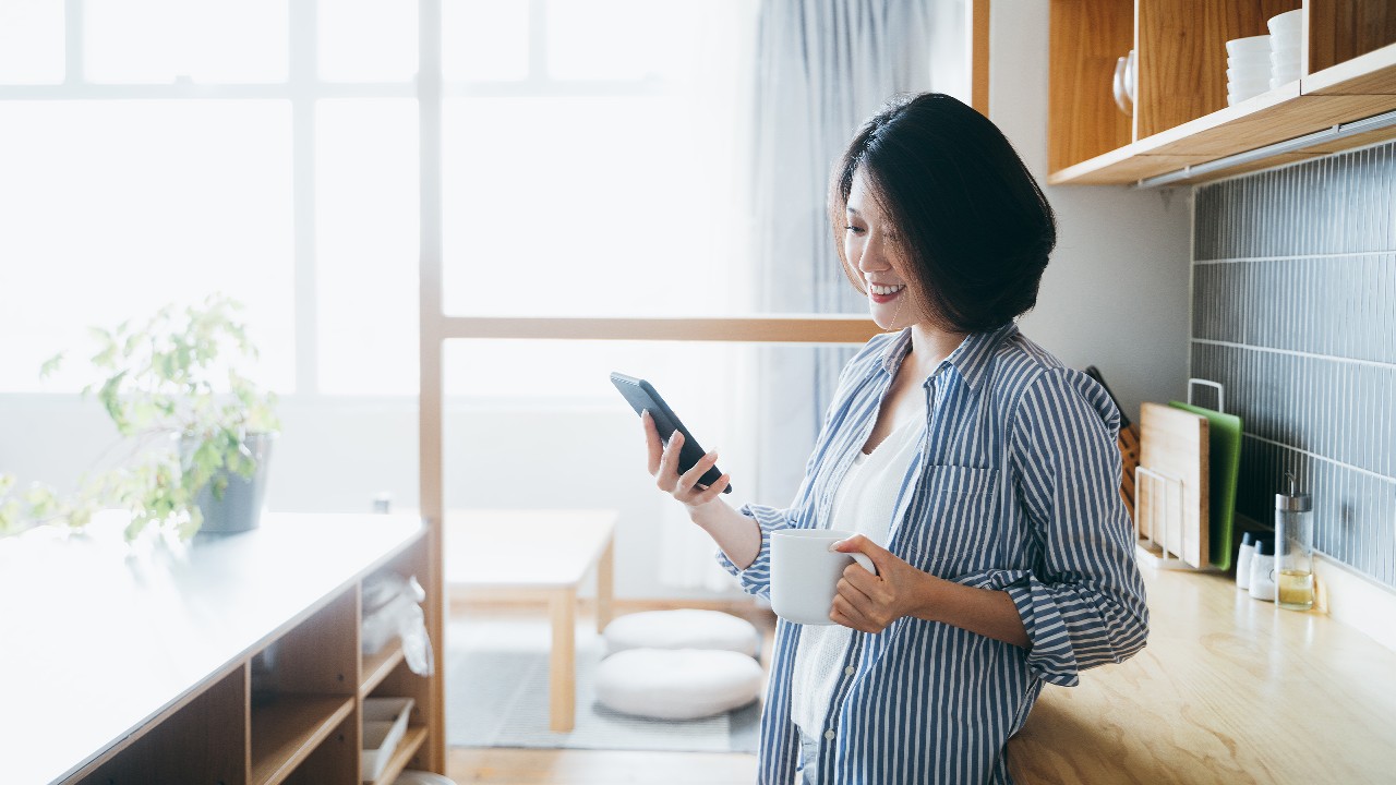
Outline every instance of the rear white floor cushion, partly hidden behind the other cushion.
POLYGON ((705 648, 755 656, 755 624, 720 610, 646 610, 620 616, 603 633, 610 654, 632 648, 705 648))

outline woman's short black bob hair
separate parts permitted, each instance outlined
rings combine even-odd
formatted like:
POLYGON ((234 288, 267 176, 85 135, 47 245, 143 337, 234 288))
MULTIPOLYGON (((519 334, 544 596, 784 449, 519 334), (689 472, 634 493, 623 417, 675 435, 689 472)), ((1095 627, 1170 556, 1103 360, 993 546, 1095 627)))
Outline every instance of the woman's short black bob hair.
POLYGON ((956 332, 1001 327, 1037 303, 1057 221, 1047 196, 994 123, 942 94, 899 96, 863 124, 829 189, 829 221, 843 271, 845 211, 863 168, 893 222, 933 318, 956 332))

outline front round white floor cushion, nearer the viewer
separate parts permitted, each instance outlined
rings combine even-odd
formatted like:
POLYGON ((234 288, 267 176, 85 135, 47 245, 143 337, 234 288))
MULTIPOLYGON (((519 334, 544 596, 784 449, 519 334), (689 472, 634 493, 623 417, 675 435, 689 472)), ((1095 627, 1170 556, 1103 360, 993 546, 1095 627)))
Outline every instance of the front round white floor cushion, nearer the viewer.
POLYGON ((632 648, 596 669, 596 700, 623 714, 697 719, 757 700, 761 663, 734 651, 632 648))

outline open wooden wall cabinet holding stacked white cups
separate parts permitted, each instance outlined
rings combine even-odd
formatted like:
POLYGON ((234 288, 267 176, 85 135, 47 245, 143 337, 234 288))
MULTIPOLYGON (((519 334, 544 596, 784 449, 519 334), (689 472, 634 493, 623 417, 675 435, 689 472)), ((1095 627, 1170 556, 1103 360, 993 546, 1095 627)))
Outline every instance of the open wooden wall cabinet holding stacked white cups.
POLYGON ((1396 138, 1357 124, 1396 110, 1388 0, 1051 0, 1050 20, 1048 183, 1196 183, 1396 138), (1301 78, 1227 106, 1226 42, 1295 8, 1301 78), (1131 49, 1127 116, 1111 85, 1131 49))

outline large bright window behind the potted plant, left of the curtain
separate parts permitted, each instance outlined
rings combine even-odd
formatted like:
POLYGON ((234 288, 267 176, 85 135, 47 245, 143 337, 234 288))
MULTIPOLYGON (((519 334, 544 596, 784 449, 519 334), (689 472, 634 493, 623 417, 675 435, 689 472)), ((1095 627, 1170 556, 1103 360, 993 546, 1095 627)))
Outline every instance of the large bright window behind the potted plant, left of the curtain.
POLYGON ((39 390, 88 324, 222 289, 282 392, 415 394, 422 166, 452 313, 748 310, 754 0, 443 0, 440 161, 417 3, 14 0, 0 21, 0 335, 25 337, 0 341, 0 391, 39 390))

